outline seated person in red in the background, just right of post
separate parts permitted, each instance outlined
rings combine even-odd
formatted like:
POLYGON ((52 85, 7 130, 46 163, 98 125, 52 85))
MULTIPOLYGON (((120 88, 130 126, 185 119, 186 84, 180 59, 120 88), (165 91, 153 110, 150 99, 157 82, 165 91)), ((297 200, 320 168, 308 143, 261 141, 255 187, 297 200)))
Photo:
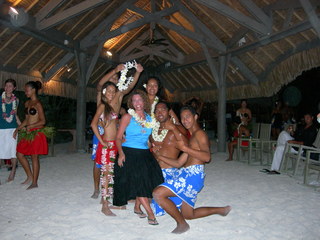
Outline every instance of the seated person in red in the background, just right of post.
MULTIPOLYGON (((238 144, 239 136, 242 138, 250 136, 249 129, 243 124, 243 122, 241 122, 241 118, 239 116, 235 117, 233 124, 236 126, 236 129, 233 133, 233 140, 228 143, 229 158, 226 161, 232 161, 234 146, 238 144)), ((249 146, 249 141, 241 141, 241 146, 249 146)))

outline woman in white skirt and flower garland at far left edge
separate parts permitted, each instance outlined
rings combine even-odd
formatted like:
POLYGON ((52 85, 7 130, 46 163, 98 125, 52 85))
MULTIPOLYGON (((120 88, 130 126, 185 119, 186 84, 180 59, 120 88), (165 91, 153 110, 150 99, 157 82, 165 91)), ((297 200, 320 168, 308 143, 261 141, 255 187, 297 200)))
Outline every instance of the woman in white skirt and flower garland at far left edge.
POLYGON ((15 80, 6 80, 4 82, 4 92, 1 95, 0 159, 11 159, 12 169, 8 177, 8 182, 13 181, 17 166, 17 140, 13 137, 15 129, 20 125, 20 120, 17 116, 19 100, 13 94, 16 86, 15 80))

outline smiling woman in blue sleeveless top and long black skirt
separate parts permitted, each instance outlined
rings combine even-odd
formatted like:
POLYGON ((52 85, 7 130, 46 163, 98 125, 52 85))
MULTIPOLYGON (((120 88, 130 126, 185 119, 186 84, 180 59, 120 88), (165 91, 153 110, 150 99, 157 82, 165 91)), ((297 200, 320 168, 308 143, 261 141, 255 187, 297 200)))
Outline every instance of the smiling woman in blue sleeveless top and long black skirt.
MULTIPOLYGON (((119 157, 115 164, 113 204, 123 206, 128 200, 136 199, 146 210, 148 223, 157 225, 149 198, 152 198, 153 189, 163 183, 163 177, 148 145, 154 123, 148 114, 150 103, 143 91, 136 90, 128 99, 128 107, 128 113, 121 118, 116 137, 119 157), (122 141, 124 133, 125 142, 122 141)), ((135 213, 145 217, 142 212, 135 210, 135 213)))

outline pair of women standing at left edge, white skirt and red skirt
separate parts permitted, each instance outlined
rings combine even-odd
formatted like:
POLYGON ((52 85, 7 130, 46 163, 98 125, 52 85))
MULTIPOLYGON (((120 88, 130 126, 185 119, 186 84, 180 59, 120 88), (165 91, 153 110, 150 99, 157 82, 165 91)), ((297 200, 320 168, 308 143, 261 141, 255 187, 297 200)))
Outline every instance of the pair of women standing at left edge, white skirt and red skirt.
POLYGON ((48 154, 47 138, 43 132, 46 120, 38 99, 38 91, 42 84, 39 81, 29 81, 25 84, 25 95, 29 100, 24 104, 25 119, 22 122, 17 115, 19 99, 14 95, 16 87, 14 79, 6 80, 1 95, 0 159, 11 159, 12 170, 7 180, 10 182, 14 180, 18 158, 27 175, 22 184, 30 184, 27 189, 32 189, 38 187, 39 155, 48 154), (31 156, 32 169, 26 155, 31 156))

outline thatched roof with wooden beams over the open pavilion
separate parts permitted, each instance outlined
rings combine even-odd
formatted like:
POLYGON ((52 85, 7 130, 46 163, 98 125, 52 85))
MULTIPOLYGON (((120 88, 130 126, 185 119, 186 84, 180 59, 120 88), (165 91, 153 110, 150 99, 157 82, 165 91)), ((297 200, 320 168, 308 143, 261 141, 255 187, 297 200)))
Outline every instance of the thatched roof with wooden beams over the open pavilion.
POLYGON ((133 59, 175 101, 215 101, 223 75, 228 99, 271 96, 320 66, 318 0, 10 0, 0 8, 0 81, 13 77, 22 88, 36 78, 48 94, 76 97, 80 52, 88 100, 107 69, 133 59), (27 14, 10 16, 8 5, 27 14))

